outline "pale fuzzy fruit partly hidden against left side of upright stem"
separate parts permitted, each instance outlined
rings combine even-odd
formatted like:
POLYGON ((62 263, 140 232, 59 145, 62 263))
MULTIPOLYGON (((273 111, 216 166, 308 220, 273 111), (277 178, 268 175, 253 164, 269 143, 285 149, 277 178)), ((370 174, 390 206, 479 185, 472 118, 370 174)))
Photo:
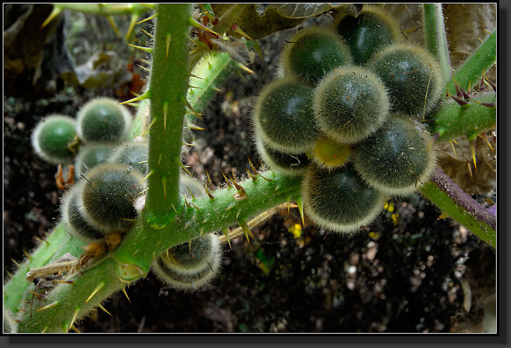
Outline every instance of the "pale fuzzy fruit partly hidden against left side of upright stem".
POLYGON ((149 147, 147 142, 142 140, 133 140, 117 146, 110 157, 110 162, 125 165, 129 172, 131 169, 137 170, 144 176, 147 175, 147 160, 149 158, 149 147))

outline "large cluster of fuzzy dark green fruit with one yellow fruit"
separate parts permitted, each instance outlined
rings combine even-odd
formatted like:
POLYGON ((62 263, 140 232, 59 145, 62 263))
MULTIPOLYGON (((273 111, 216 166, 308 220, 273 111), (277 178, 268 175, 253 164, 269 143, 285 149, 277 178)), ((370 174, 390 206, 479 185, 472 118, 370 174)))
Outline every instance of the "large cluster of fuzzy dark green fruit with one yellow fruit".
POLYGON ((425 183, 436 156, 419 120, 441 94, 438 63, 398 43, 399 27, 365 5, 332 27, 287 41, 283 74, 257 98, 257 149, 272 170, 303 175, 304 209, 315 224, 352 232, 389 196, 425 183))

